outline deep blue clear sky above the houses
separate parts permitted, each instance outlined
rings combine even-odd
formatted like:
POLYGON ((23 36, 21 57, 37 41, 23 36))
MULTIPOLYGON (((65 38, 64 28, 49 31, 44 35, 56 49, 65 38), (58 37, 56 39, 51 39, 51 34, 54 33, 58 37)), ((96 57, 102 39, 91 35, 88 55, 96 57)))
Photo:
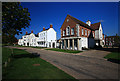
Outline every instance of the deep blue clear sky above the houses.
POLYGON ((60 38, 60 27, 67 14, 86 22, 101 21, 103 32, 106 35, 118 33, 118 2, 21 2, 24 8, 30 12, 31 22, 29 28, 23 29, 23 34, 16 37, 19 39, 26 31, 33 30, 37 34, 43 27, 53 28, 57 32, 57 39, 60 38))

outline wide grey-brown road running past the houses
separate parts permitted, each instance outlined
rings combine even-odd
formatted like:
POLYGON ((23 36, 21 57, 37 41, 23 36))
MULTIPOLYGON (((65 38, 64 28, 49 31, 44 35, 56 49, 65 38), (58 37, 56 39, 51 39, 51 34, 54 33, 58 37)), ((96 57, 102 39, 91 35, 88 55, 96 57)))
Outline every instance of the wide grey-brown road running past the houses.
POLYGON ((40 58, 50 62, 76 79, 118 79, 118 65, 104 59, 110 52, 88 50, 77 54, 56 52, 28 47, 11 47, 40 54, 40 58))

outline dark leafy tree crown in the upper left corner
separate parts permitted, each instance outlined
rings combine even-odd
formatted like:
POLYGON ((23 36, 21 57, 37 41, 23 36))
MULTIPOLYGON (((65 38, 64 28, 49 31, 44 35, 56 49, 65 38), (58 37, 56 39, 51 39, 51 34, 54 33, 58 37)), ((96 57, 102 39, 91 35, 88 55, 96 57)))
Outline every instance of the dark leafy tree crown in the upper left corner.
POLYGON ((29 27, 30 20, 28 8, 23 8, 20 2, 2 3, 2 35, 14 37, 22 34, 22 28, 29 27))

